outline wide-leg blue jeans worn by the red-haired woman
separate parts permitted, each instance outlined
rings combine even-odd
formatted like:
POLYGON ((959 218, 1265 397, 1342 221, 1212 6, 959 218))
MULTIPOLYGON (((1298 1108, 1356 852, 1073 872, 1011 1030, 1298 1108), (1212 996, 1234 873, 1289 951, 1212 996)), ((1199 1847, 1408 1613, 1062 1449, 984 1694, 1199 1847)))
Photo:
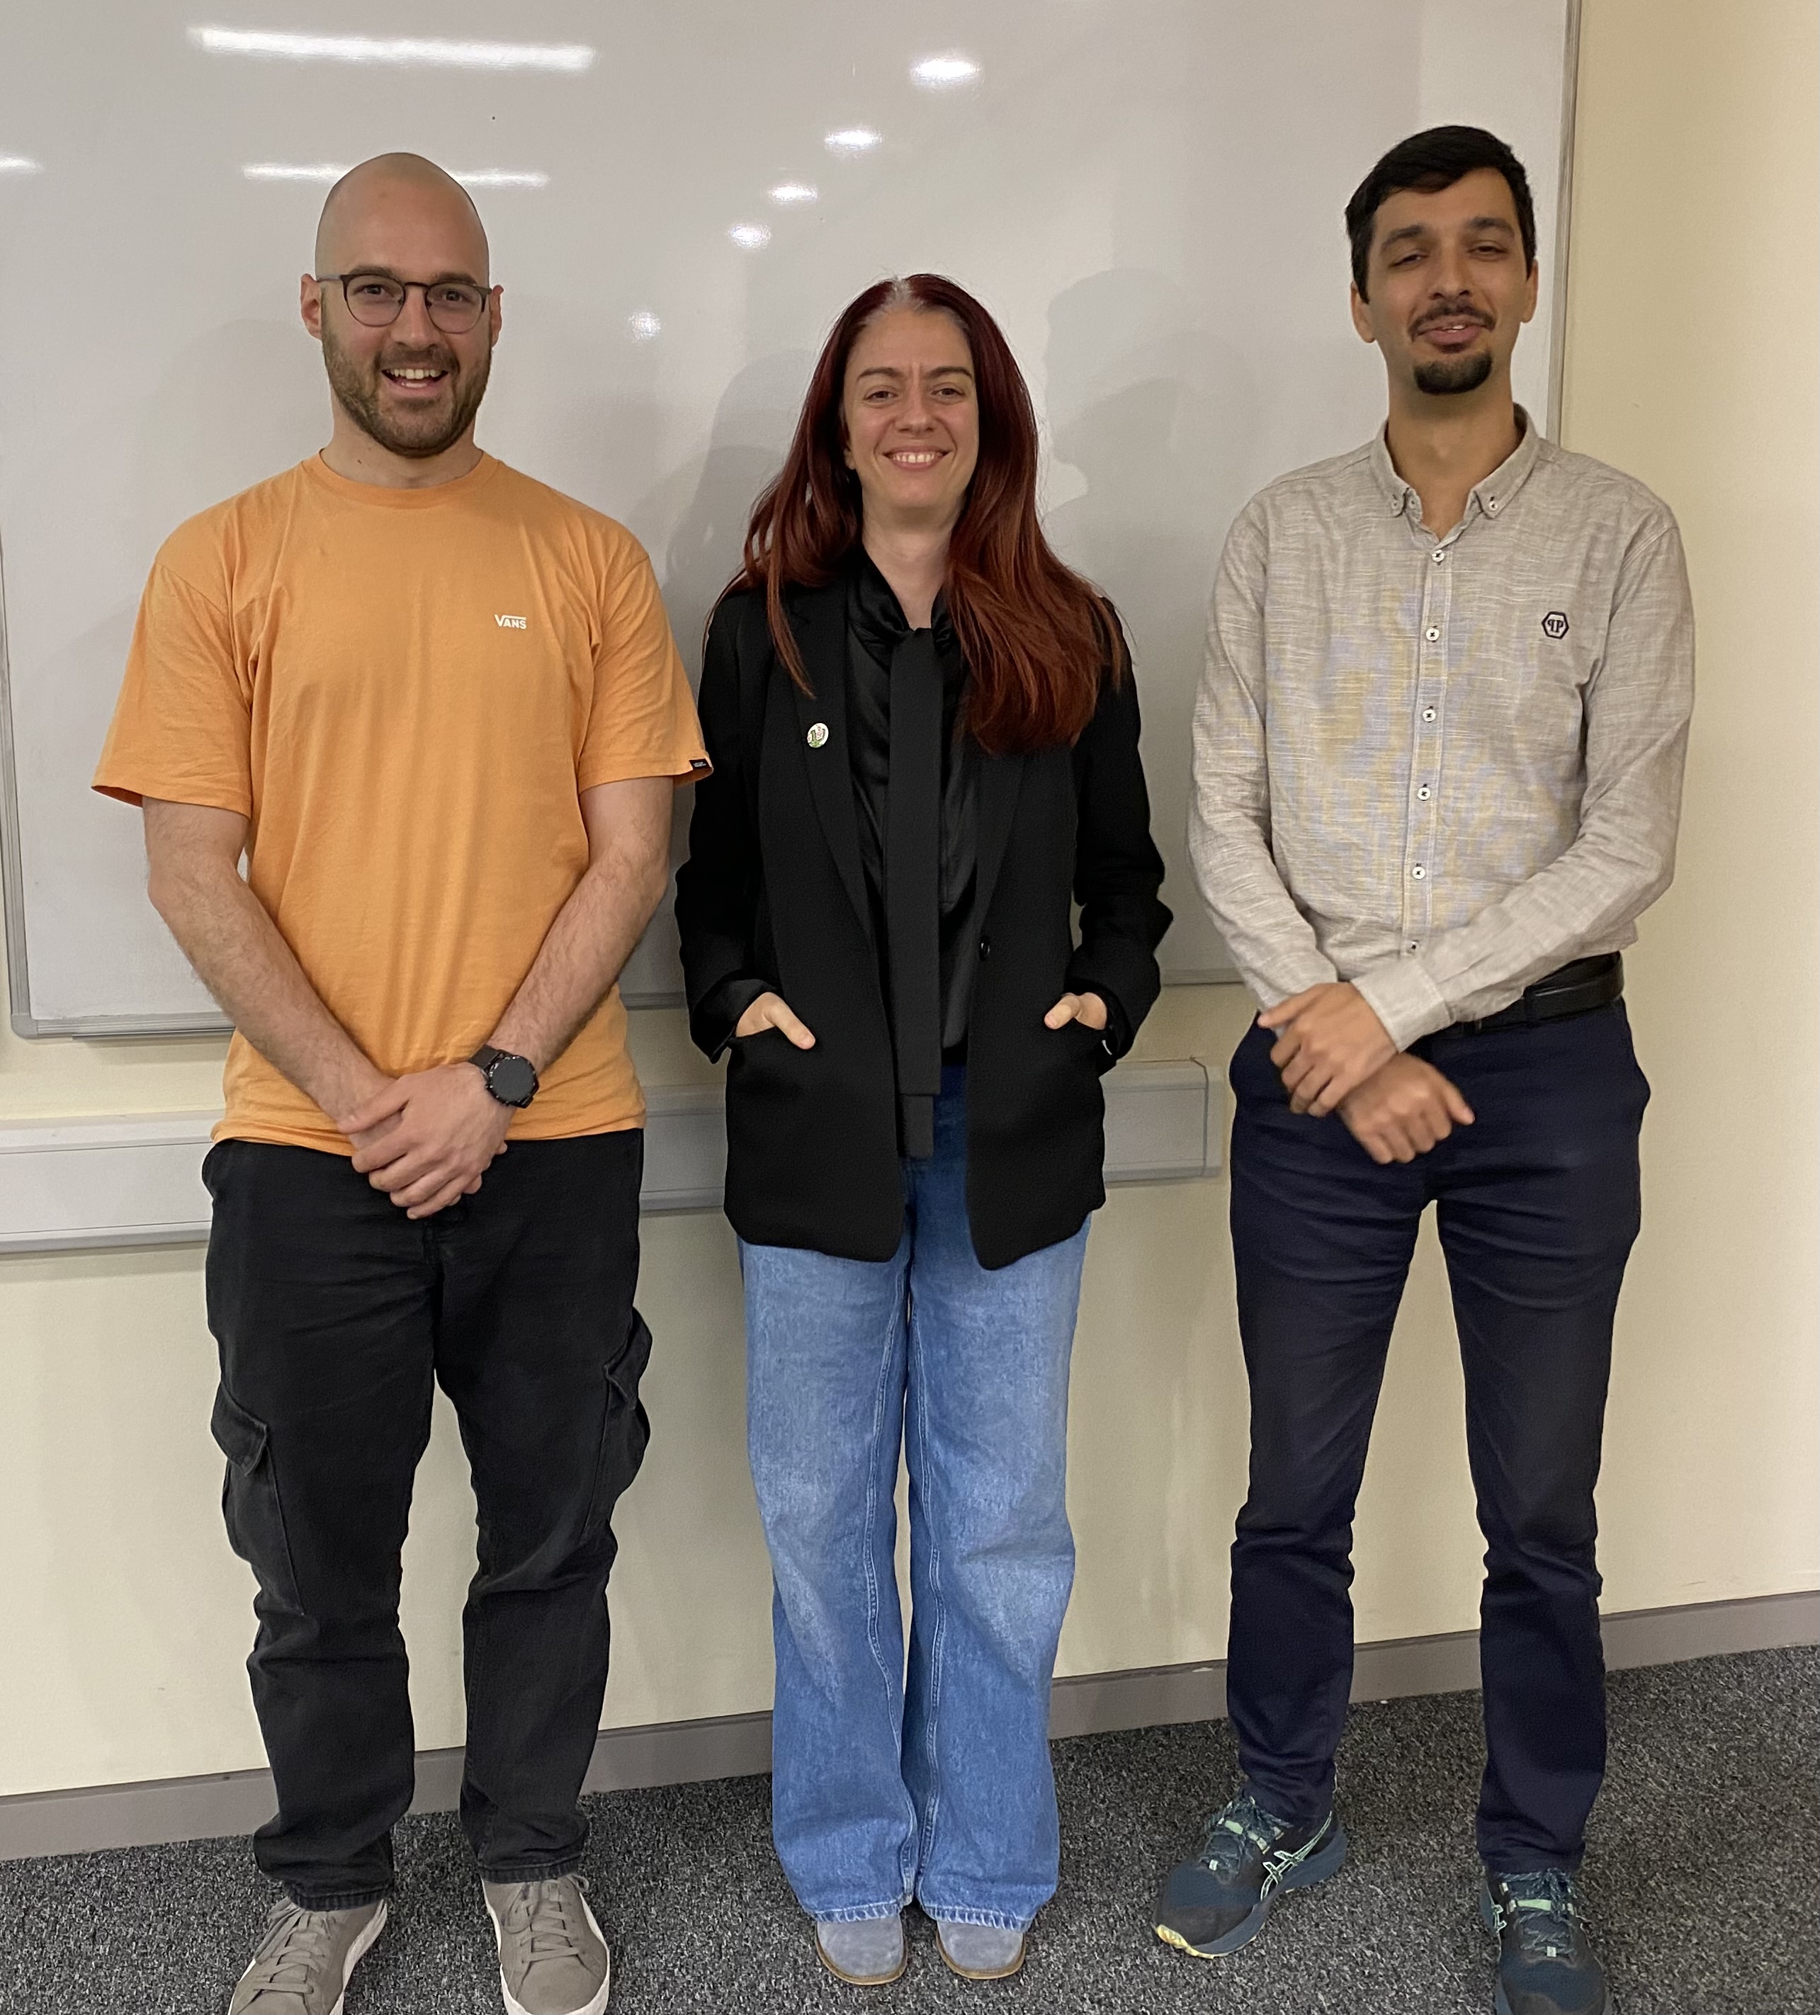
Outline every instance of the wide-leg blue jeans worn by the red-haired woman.
POLYGON ((776 1598, 772 1828, 816 1918, 1022 1930, 1056 1890, 1048 1695, 1074 1582, 1068 1352, 1086 1225, 988 1273, 965 1072, 885 1261, 740 1245, 748 1447, 776 1598), (909 1465, 911 1642, 893 1552, 909 1465))

